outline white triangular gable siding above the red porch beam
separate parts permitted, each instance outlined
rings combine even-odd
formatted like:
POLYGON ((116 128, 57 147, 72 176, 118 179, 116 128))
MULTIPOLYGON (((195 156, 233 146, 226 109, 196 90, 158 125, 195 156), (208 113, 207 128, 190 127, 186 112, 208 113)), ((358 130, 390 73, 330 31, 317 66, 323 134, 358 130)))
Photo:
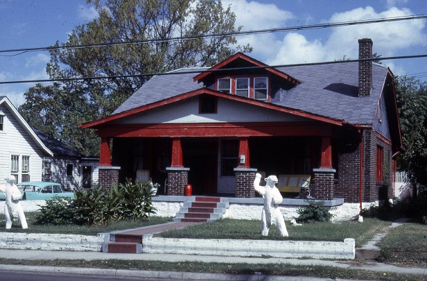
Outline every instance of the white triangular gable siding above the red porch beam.
POLYGON ((123 124, 304 121, 302 117, 259 106, 218 99, 215 114, 200 114, 198 97, 123 118, 123 124))

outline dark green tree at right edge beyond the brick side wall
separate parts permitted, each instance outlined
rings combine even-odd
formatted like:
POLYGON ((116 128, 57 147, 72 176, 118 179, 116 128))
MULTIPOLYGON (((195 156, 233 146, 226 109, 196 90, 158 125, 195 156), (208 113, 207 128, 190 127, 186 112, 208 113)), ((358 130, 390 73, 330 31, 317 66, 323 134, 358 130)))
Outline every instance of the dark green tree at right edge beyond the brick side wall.
POLYGON ((398 169, 408 171, 412 182, 427 185, 427 83, 398 76, 395 87, 405 149, 398 169))

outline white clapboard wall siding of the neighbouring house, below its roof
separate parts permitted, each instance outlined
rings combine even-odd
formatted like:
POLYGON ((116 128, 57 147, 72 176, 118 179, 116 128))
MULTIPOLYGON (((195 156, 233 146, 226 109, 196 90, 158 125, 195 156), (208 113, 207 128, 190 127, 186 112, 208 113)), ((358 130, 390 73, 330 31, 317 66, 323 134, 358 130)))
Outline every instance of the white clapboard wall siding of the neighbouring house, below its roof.
MULTIPOLYGON (((4 178, 10 175, 10 155, 19 155, 19 169, 22 167, 22 155, 30 157, 30 180, 42 180, 42 149, 37 146, 19 121, 4 105, 0 110, 5 114, 5 130, 0 132, 0 184, 6 184, 4 178)), ((19 171, 20 176, 21 171, 19 171)), ((19 178, 19 181, 20 178, 19 178)))

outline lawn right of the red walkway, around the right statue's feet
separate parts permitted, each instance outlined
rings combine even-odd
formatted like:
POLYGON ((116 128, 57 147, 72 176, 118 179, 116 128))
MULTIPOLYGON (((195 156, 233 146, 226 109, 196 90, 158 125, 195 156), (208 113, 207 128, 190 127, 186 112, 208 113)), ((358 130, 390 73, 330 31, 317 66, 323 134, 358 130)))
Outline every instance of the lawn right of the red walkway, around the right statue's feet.
POLYGON ((379 219, 343 221, 341 223, 304 223, 290 225, 286 222, 289 237, 281 237, 279 231, 272 225, 268 237, 261 235, 261 221, 243 219, 218 219, 211 223, 191 225, 187 228, 168 230, 156 234, 164 238, 193 238, 193 239, 268 239, 294 241, 344 241, 354 238, 356 247, 363 246, 376 232, 384 230, 390 222, 379 219))

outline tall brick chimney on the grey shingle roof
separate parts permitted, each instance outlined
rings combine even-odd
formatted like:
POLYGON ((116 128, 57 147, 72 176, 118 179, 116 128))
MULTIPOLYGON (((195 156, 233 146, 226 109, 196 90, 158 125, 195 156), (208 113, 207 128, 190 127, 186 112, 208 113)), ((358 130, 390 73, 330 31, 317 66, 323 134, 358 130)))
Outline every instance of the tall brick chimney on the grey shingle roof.
MULTIPOLYGON (((372 58, 372 40, 359 39, 359 60, 372 58)), ((372 60, 359 62, 359 96, 369 96, 372 90, 372 60)))

